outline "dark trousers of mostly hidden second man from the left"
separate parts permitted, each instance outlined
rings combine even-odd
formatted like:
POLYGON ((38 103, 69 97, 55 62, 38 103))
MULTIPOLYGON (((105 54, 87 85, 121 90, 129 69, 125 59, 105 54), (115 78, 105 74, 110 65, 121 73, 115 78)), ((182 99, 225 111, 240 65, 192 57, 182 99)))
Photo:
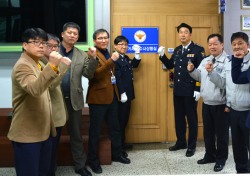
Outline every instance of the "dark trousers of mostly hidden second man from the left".
POLYGON ((52 137, 52 152, 51 152, 51 167, 50 167, 50 176, 54 176, 56 173, 57 166, 57 152, 59 141, 62 133, 62 127, 56 127, 56 137, 52 137))

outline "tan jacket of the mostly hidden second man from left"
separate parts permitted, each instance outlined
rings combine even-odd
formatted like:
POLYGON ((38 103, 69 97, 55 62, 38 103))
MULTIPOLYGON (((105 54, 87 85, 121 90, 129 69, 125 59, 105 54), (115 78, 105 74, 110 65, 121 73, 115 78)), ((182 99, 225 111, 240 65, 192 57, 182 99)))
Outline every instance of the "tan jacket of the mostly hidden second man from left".
MULTIPOLYGON (((48 60, 44 57, 40 60, 40 63, 44 68, 48 63, 48 60)), ((61 81, 68 69, 69 66, 61 62, 59 65, 59 76, 53 80, 49 87, 49 93, 52 103, 52 119, 55 127, 64 126, 67 120, 67 109, 63 100, 61 81)))

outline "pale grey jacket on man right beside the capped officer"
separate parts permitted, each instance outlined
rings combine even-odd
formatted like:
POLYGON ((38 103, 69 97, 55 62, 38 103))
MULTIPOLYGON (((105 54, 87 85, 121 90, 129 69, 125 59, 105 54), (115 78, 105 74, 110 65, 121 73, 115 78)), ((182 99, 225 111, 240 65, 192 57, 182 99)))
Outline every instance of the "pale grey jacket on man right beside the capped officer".
MULTIPOLYGON (((190 72, 190 76, 201 82, 200 93, 203 102, 207 105, 226 104, 226 89, 225 84, 218 86, 210 80, 210 73, 207 72, 205 66, 208 62, 213 62, 213 56, 210 55, 202 60, 199 67, 190 72), (223 86, 224 85, 224 86, 223 86)), ((223 51, 215 60, 213 72, 223 76, 225 72, 225 61, 227 59, 226 52, 223 51)))

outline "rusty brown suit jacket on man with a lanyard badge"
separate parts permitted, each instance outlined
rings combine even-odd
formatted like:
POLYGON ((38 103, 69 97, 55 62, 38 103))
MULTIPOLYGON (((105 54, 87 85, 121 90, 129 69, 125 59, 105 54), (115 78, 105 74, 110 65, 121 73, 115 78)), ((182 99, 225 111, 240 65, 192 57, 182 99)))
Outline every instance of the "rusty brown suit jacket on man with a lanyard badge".
POLYGON ((89 79, 87 103, 111 104, 115 93, 119 97, 116 84, 111 83, 111 71, 115 74, 115 64, 111 58, 106 59, 98 49, 96 52, 99 64, 94 77, 89 79))

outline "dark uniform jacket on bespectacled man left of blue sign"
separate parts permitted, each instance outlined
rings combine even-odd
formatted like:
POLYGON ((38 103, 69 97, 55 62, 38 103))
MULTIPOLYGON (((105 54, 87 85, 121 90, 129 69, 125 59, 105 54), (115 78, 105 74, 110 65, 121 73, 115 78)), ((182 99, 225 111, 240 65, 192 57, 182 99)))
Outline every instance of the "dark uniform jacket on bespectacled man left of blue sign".
POLYGON ((127 55, 124 57, 120 55, 120 58, 115 62, 115 77, 119 95, 126 92, 128 101, 135 98, 133 68, 137 68, 140 62, 141 60, 130 59, 127 55))

